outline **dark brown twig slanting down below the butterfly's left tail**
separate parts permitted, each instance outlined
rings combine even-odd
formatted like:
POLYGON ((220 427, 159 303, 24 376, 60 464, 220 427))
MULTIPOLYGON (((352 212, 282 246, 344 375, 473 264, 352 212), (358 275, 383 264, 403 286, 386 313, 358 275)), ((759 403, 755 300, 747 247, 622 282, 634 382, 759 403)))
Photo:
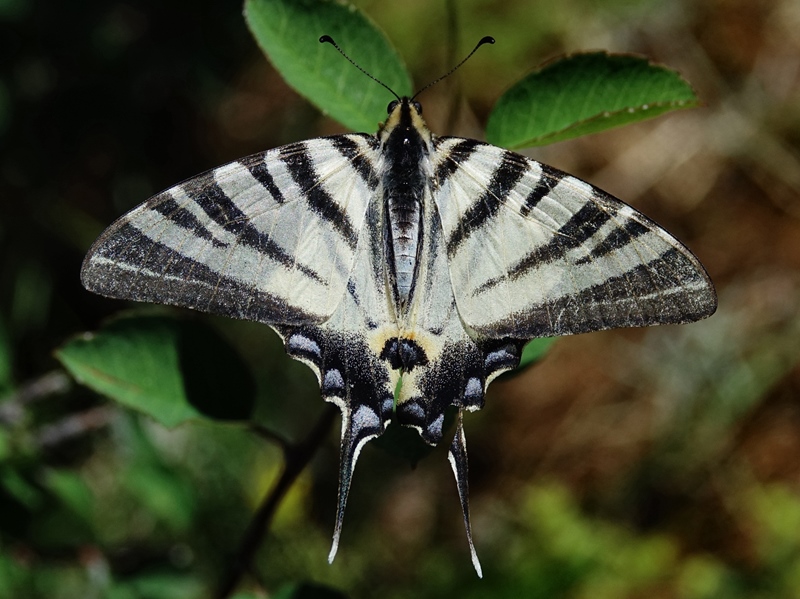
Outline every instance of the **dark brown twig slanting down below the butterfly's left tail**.
POLYGON ((280 477, 253 515, 253 519, 239 542, 236 556, 223 577, 217 593, 214 595, 216 599, 230 597, 245 572, 250 569, 253 557, 261 546, 267 530, 269 530, 269 525, 278 510, 278 506, 294 481, 311 461, 314 453, 322 445, 322 441, 333 424, 336 414, 337 410, 334 406, 326 406, 325 412, 305 440, 302 443, 285 448, 283 472, 281 472, 280 477))

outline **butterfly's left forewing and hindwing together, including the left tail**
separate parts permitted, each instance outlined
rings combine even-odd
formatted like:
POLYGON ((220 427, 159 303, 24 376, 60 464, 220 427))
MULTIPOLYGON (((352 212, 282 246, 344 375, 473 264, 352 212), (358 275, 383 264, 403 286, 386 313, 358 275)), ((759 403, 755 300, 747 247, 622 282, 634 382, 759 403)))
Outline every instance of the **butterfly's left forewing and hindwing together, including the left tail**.
MULTIPOLYGON (((90 249, 84 286, 266 323, 342 411, 336 554, 359 452, 393 411, 397 336, 385 296, 380 153, 339 135, 243 158, 122 216, 90 249)), ((395 327, 396 328, 396 327, 395 327)))

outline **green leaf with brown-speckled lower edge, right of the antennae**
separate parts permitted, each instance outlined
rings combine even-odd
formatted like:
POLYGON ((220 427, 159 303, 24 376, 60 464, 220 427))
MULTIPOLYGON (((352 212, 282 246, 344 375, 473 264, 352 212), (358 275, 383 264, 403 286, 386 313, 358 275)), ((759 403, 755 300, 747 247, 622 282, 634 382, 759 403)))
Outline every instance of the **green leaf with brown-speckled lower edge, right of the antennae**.
POLYGON ((700 104, 677 72, 605 52, 551 62, 509 89, 486 125, 490 143, 539 146, 700 104))

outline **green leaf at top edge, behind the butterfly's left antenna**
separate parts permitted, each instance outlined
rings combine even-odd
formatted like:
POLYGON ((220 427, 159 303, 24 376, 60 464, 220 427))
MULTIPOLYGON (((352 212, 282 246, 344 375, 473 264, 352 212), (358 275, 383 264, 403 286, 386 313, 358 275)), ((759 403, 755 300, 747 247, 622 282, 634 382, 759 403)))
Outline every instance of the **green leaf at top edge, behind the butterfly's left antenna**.
POLYGON ((394 99, 331 45, 330 35, 365 71, 398 95, 410 95, 411 78, 383 32, 363 13, 328 0, 247 0, 245 19, 258 45, 284 79, 346 127, 372 133, 394 99))

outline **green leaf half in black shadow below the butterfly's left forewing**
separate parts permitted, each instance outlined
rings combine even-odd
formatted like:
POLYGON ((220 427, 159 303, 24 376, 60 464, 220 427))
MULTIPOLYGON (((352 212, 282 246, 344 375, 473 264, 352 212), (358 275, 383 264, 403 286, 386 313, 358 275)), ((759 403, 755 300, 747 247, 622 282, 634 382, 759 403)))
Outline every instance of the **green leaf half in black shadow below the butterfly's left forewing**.
POLYGON ((255 383, 241 358, 196 321, 127 316, 68 341, 56 357, 75 379, 165 426, 250 416, 255 383))

